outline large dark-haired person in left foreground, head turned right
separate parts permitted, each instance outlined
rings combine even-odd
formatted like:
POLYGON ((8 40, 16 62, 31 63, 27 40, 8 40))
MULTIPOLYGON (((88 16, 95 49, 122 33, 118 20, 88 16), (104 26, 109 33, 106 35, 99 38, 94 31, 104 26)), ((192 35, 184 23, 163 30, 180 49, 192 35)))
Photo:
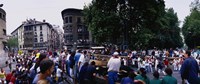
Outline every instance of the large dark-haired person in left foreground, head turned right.
POLYGON ((52 84, 51 79, 49 77, 51 76, 51 73, 54 70, 54 62, 52 60, 46 59, 42 60, 40 62, 40 73, 35 76, 32 84, 37 84, 40 80, 47 80, 48 83, 52 84))

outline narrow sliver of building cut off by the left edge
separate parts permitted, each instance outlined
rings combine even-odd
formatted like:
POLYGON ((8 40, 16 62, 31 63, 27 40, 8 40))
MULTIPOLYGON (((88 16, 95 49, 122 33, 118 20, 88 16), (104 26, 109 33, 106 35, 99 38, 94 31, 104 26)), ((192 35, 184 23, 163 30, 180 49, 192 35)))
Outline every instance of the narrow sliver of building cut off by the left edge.
POLYGON ((0 52, 6 45, 6 12, 0 7, 0 52))

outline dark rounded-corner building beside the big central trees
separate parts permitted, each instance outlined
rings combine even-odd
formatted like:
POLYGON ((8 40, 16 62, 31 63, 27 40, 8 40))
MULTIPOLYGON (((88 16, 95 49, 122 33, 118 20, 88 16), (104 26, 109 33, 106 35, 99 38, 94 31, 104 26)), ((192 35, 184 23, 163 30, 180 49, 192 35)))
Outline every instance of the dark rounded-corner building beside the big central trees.
POLYGON ((64 30, 64 45, 67 48, 89 47, 89 31, 84 24, 81 9, 68 8, 61 12, 64 30))

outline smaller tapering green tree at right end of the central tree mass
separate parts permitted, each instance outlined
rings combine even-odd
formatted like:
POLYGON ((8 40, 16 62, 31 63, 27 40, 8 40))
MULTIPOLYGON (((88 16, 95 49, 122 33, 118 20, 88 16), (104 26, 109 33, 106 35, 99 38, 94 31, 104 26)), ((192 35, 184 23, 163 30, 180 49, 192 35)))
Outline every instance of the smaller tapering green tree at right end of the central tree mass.
POLYGON ((173 8, 166 9, 166 12, 159 20, 160 29, 155 39, 160 48, 182 47, 183 42, 180 36, 179 20, 173 8))

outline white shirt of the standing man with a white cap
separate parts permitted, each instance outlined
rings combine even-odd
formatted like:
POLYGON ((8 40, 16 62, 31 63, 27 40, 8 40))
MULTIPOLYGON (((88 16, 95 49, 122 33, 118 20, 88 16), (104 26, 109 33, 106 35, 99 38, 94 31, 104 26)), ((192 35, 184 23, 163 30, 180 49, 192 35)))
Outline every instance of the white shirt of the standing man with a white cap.
POLYGON ((111 57, 110 60, 108 61, 107 67, 108 67, 108 72, 109 71, 119 71, 121 66, 121 59, 111 57))

